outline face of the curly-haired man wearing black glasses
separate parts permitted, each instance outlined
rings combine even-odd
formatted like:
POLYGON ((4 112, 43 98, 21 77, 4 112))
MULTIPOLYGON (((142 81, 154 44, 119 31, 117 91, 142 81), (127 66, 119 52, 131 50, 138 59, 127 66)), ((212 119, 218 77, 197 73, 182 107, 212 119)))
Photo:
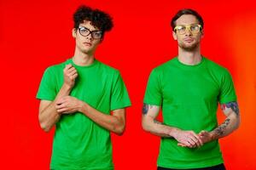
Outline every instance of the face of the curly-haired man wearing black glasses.
POLYGON ((79 25, 79 29, 73 29, 73 37, 76 39, 76 48, 80 52, 90 55, 95 53, 98 44, 102 42, 102 37, 98 38, 96 37, 96 34, 93 33, 96 31, 100 30, 95 26, 92 26, 89 20, 84 20, 84 23, 79 25), (90 33, 86 36, 84 31, 90 31, 90 33), (92 36, 92 34, 95 35, 92 36))

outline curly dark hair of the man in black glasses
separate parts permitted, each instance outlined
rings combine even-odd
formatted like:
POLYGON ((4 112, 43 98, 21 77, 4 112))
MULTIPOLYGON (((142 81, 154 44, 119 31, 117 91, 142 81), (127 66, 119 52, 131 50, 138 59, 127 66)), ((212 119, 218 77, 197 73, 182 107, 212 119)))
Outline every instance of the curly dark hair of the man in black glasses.
POLYGON ((78 29, 79 24, 84 23, 84 20, 90 20, 91 25, 96 26, 103 34, 113 27, 113 20, 109 14, 82 5, 73 14, 74 28, 78 29))

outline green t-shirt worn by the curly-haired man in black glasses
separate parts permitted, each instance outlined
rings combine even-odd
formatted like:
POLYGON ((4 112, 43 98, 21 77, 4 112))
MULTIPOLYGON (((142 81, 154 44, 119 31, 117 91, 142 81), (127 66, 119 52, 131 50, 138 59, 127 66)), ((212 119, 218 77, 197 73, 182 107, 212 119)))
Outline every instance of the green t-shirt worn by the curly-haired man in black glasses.
MULTIPOLYGON (((110 111, 131 105, 119 71, 96 59, 89 66, 75 65, 72 59, 67 59, 47 68, 38 89, 38 99, 55 99, 63 84, 63 69, 70 63, 79 74, 71 96, 108 115, 110 111)), ((80 112, 62 115, 55 124, 50 168, 113 169, 109 131, 80 112)))

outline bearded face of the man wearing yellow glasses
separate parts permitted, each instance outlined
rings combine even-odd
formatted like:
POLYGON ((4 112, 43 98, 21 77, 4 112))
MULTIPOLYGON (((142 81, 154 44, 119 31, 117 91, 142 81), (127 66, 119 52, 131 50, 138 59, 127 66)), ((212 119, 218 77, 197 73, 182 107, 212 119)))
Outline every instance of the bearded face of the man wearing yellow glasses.
POLYGON ((199 21, 192 14, 183 14, 176 20, 177 26, 185 26, 185 32, 179 34, 178 31, 172 31, 172 36, 177 40, 179 48, 186 51, 194 51, 200 46, 201 38, 203 37, 202 31, 193 31, 193 26, 199 25, 199 21))

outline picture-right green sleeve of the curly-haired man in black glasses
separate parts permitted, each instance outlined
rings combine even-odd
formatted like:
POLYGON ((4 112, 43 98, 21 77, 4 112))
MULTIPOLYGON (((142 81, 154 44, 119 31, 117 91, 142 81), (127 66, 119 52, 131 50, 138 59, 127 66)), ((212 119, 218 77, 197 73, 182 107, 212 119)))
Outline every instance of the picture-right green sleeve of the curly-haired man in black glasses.
POLYGON ((110 110, 117 110, 131 105, 125 82, 117 71, 113 77, 113 88, 110 100, 110 110))

